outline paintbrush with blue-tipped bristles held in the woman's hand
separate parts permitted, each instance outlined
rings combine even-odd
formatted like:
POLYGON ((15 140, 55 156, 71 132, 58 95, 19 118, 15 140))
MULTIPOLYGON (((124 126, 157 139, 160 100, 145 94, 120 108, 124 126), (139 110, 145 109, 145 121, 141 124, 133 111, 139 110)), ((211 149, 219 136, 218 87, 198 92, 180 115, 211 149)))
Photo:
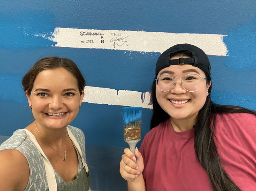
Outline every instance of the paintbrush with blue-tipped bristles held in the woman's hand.
POLYGON ((141 116, 141 107, 123 107, 123 140, 129 144, 134 156, 136 144, 141 141, 141 116))

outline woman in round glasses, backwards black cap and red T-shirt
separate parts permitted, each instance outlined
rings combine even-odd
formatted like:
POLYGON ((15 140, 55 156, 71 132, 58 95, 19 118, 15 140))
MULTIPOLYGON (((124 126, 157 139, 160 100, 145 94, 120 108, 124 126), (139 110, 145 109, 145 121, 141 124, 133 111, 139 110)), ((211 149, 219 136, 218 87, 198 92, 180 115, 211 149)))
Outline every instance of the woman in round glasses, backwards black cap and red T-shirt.
POLYGON ((151 131, 136 158, 126 148, 120 161, 129 190, 255 189, 256 112, 213 103, 210 70, 193 45, 161 54, 151 131))

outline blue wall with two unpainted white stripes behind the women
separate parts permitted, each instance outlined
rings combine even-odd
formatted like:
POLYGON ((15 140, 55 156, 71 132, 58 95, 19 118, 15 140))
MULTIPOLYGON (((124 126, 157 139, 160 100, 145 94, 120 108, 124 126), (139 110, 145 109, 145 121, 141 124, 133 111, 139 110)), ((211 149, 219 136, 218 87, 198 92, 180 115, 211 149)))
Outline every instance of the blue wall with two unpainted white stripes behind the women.
POLYGON ((212 65, 213 101, 256 109, 255 7, 254 0, 1 0, 0 135, 33 121, 20 82, 26 71, 45 56, 70 58, 87 84, 71 125, 86 136, 91 189, 125 190, 121 109, 143 107, 144 137, 155 63, 165 49, 202 48, 212 65))

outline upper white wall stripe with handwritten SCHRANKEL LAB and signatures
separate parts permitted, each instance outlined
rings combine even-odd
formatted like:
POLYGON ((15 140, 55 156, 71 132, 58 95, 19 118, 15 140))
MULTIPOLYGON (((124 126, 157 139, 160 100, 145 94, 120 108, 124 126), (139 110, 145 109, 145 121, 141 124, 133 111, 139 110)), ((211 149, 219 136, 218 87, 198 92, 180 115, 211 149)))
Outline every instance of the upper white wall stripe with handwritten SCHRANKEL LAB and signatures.
POLYGON ((56 47, 103 48, 141 52, 164 52, 176 44, 193 44, 208 55, 226 56, 223 42, 226 35, 163 33, 145 31, 119 31, 55 28, 52 41, 56 47))

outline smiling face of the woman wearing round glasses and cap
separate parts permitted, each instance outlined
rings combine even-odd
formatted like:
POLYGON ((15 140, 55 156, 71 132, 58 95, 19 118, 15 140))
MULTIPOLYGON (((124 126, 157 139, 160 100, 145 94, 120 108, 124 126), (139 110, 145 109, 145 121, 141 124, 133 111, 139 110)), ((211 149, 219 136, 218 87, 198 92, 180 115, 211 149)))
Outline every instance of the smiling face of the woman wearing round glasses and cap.
MULTIPOLYGON (((185 57, 185 56, 184 56, 185 57)), ((175 56, 172 59, 178 59, 179 56, 175 56)), ((188 58, 188 57, 185 57, 188 58)), ((199 110, 204 106, 207 90, 211 84, 207 84, 206 80, 202 81, 201 87, 195 92, 188 92, 182 87, 181 79, 186 74, 198 74, 201 77, 206 77, 204 72, 195 66, 190 64, 184 65, 171 65, 162 69, 160 75, 170 75, 173 78, 177 78, 176 85, 167 91, 163 92, 156 87, 156 97, 159 105, 162 109, 168 113, 173 119, 177 120, 195 120, 199 110)))

